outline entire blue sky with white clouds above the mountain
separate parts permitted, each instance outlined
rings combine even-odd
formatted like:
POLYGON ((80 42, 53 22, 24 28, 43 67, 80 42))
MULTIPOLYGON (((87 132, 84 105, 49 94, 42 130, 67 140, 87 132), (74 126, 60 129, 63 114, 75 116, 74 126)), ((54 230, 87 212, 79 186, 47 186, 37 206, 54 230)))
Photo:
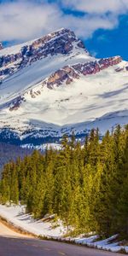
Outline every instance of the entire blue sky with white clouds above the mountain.
POLYGON ((128 61, 128 0, 0 0, 0 41, 5 46, 66 27, 91 55, 128 61))

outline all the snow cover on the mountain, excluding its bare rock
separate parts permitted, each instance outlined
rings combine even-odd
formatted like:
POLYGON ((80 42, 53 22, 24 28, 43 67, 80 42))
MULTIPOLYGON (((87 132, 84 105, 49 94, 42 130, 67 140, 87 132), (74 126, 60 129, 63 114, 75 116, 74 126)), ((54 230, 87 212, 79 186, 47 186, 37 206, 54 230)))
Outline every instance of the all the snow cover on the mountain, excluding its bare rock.
MULTIPOLYGON (((68 38, 71 39, 71 35, 68 38)), ((18 53, 23 46, 32 42, 34 40, 2 49, 0 56, 18 53)), ((113 130, 115 125, 128 123, 126 61, 120 59, 117 65, 87 75, 79 73, 78 69, 79 78, 71 77, 71 83, 67 84, 64 80, 59 86, 54 84, 53 88, 47 87, 51 74, 62 67, 85 63, 93 65, 99 61, 90 56, 85 48, 79 47, 79 43, 76 38, 71 43, 73 49, 67 54, 46 55, 30 61, 3 79, 0 83, 0 131, 3 128, 11 129, 15 137, 23 141, 26 137, 61 137, 64 133, 70 135, 72 131, 80 136, 97 126, 103 134, 113 130)), ((15 61, 7 67, 14 65, 15 61)))

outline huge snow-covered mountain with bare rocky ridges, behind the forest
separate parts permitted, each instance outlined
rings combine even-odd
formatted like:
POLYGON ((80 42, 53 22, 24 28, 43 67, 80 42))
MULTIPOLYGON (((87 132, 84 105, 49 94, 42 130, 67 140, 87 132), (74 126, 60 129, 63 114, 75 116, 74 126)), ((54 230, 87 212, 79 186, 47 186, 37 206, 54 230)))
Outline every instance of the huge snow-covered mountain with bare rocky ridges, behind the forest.
POLYGON ((128 123, 128 62, 92 57, 68 29, 0 50, 0 140, 58 141, 128 123))

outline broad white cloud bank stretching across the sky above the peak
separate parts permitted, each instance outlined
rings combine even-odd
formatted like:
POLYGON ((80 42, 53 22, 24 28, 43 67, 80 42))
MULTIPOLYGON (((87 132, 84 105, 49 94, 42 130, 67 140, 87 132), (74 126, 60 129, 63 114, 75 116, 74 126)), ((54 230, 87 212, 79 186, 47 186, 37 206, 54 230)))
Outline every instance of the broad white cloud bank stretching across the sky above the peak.
POLYGON ((99 28, 118 26, 120 14, 128 11, 128 0, 15 0, 0 2, 0 40, 26 41, 60 27, 71 28, 89 38, 99 28), (83 15, 64 12, 82 11, 83 15))

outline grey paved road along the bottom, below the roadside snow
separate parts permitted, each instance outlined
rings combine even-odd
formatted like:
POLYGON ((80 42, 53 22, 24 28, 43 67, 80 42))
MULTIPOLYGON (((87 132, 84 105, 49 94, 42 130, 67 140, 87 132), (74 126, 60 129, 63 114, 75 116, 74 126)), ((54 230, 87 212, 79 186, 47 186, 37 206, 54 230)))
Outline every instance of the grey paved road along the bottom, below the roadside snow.
POLYGON ((56 241, 0 237, 0 256, 122 256, 56 241))

